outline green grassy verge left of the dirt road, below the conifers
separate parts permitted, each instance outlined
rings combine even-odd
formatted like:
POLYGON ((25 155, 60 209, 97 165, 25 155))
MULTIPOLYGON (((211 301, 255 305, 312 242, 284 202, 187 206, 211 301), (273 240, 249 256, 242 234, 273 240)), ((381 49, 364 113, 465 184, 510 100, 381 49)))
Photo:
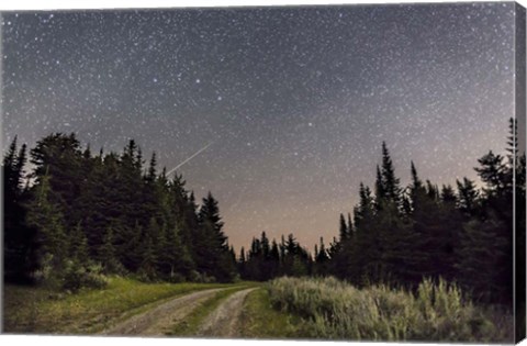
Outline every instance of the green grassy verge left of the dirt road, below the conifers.
POLYGON ((7 284, 4 333, 91 334, 164 301, 190 292, 232 287, 222 283, 144 283, 111 277, 102 290, 64 294, 7 284))

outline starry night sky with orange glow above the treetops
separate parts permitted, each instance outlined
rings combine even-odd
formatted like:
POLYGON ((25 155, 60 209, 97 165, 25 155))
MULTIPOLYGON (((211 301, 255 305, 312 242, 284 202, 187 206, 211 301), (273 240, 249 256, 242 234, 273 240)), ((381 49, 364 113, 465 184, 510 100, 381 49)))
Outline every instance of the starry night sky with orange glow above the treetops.
POLYGON ((135 138, 238 249, 267 231, 338 233, 386 141, 436 183, 475 178, 514 115, 514 3, 5 12, 2 147, 76 132, 135 138))

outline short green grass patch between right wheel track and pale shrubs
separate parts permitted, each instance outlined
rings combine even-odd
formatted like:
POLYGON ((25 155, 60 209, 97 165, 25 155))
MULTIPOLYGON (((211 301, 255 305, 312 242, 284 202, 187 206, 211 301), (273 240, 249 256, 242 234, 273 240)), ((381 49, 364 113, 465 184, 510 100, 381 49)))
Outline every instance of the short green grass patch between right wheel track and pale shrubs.
POLYGON ((267 289, 250 292, 242 311, 242 337, 301 338, 305 323, 288 312, 272 309, 267 289))

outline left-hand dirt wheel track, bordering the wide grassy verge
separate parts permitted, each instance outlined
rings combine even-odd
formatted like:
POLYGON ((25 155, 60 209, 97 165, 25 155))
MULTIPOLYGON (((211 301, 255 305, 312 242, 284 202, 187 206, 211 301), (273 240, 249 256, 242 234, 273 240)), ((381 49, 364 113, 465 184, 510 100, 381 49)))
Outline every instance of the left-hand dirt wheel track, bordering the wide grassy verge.
POLYGON ((175 298, 144 313, 132 316, 116 325, 104 330, 102 335, 141 335, 165 336, 178 321, 184 319, 195 308, 216 292, 224 289, 199 291, 175 298))

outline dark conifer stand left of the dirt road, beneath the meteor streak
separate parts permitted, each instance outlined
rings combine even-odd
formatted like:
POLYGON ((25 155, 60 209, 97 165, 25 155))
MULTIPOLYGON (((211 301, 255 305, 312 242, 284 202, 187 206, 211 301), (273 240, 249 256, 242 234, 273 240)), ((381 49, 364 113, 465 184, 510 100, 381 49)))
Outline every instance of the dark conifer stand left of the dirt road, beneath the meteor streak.
POLYGON ((60 282, 99 267, 145 280, 234 280, 217 201, 209 192, 198 205, 181 176, 156 166, 154 153, 145 167, 133 139, 121 154, 93 155, 75 134, 54 133, 27 155, 14 138, 2 165, 5 279, 60 282))

